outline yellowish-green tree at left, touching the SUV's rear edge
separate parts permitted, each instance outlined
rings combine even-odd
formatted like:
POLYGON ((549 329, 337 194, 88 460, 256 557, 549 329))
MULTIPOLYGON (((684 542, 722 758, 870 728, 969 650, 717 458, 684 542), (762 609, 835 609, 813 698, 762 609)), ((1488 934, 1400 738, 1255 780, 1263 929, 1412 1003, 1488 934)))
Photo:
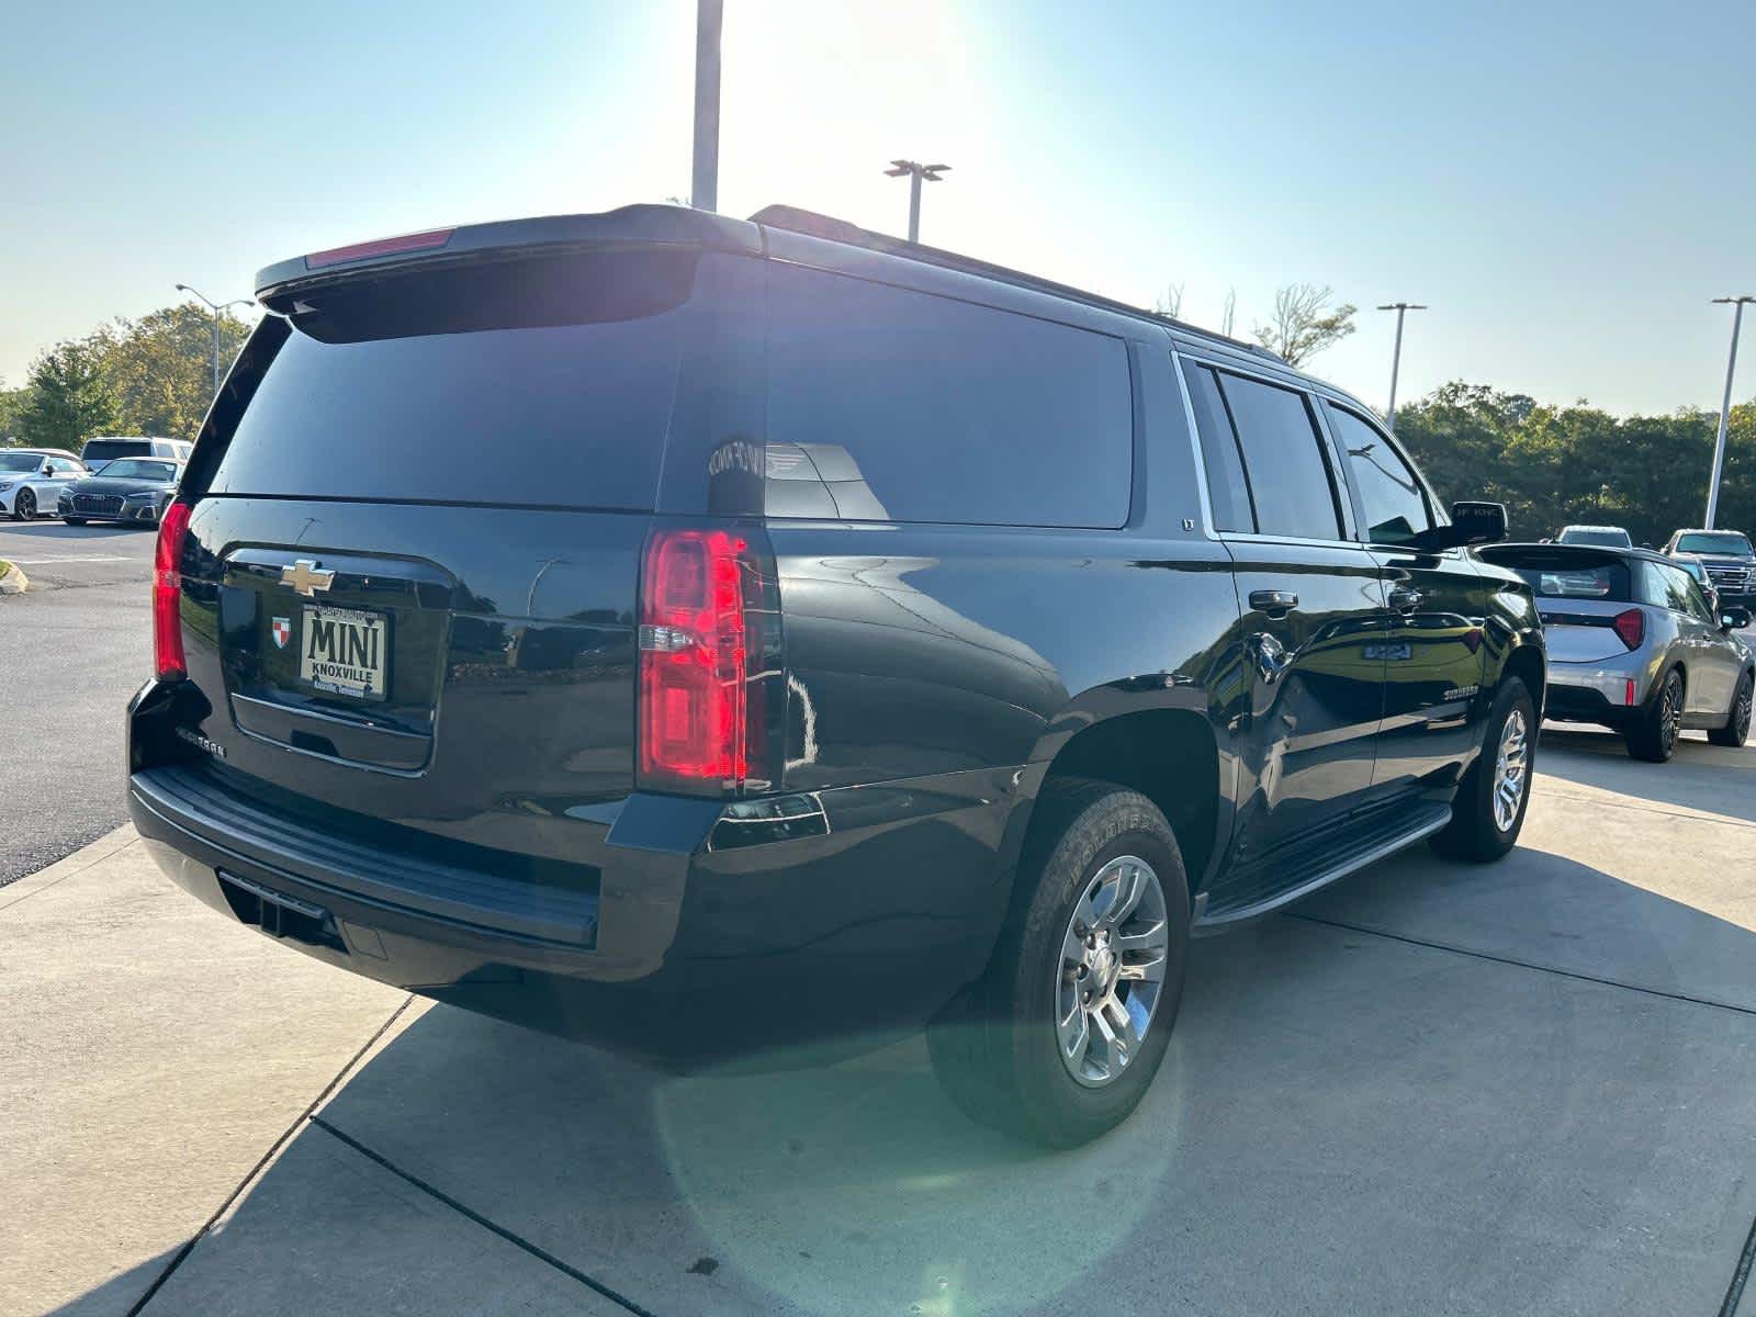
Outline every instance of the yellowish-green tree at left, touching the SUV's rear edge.
MULTIPOLYGON (((212 314, 193 302, 116 321, 104 335, 104 372, 130 434, 193 439, 212 402, 212 314)), ((220 318, 220 367, 237 356, 249 325, 220 318)))

